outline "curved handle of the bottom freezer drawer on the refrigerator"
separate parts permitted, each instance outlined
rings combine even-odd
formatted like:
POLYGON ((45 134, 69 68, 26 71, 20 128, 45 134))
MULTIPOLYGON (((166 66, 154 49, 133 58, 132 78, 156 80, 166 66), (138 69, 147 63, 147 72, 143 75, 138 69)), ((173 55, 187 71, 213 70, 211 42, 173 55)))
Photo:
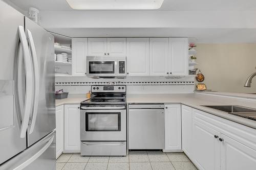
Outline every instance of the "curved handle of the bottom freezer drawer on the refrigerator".
POLYGON ((31 158, 26 160, 24 163, 20 164, 19 166, 15 167, 13 170, 21 170, 24 169, 26 166, 28 166, 30 163, 32 163, 34 160, 36 160, 39 156, 41 156, 52 144, 54 139, 54 135, 48 140, 46 145, 42 149, 40 149, 35 155, 33 155, 31 158))

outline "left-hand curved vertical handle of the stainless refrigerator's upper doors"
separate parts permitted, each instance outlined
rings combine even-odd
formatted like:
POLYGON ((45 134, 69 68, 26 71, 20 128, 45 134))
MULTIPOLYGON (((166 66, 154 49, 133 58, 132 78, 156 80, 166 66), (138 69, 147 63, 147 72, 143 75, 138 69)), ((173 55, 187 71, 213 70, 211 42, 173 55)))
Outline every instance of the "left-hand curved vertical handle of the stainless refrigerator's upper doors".
POLYGON ((29 123, 29 116, 31 113, 31 105, 33 102, 33 69, 30 59, 29 46, 27 42, 27 37, 25 35, 24 27, 18 26, 18 34, 20 43, 22 44, 24 65, 25 65, 25 74, 26 74, 26 94, 25 94, 25 106, 24 106, 24 115, 22 120, 22 126, 20 128, 20 137, 25 138, 26 132, 29 123))

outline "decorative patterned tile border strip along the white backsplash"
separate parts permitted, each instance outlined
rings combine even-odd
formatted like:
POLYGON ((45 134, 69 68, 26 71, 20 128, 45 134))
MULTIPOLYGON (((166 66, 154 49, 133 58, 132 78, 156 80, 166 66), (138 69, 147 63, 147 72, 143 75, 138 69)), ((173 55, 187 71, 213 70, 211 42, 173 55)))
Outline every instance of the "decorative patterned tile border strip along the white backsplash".
POLYGON ((136 81, 136 82, 56 82, 55 86, 92 85, 195 85, 194 81, 136 81))

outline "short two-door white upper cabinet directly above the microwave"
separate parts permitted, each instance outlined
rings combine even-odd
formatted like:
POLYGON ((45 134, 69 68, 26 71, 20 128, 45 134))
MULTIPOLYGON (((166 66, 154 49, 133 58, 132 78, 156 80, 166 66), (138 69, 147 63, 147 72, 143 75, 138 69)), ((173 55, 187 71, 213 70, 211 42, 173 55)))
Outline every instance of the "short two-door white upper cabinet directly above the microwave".
POLYGON ((89 56, 126 56, 126 38, 88 38, 89 56))

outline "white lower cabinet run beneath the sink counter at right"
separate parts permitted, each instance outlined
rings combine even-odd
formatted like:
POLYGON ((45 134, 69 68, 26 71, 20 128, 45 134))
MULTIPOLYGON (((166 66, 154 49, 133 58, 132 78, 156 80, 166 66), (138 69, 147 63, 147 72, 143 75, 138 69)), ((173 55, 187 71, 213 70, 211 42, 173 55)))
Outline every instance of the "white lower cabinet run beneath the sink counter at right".
POLYGON ((255 129, 184 105, 181 119, 182 149, 200 170, 255 169, 255 129))

